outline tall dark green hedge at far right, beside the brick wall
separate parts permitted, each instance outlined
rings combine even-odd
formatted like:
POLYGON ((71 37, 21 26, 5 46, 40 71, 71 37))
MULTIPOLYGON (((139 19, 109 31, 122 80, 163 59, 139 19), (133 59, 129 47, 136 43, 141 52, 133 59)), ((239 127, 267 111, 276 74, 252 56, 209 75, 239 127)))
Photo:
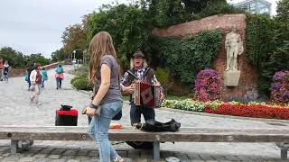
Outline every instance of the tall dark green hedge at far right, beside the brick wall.
POLYGON ((275 19, 263 14, 247 14, 247 60, 259 74, 259 91, 267 95, 275 72, 289 69, 288 43, 280 35, 282 31, 275 19))

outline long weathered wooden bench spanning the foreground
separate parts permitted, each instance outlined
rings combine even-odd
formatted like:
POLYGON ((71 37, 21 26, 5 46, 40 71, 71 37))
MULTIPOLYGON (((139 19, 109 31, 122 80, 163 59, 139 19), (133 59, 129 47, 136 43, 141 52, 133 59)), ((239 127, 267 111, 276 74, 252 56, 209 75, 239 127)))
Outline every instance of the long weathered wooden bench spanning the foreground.
MULTIPOLYGON (((11 139, 11 153, 17 152, 20 140, 91 140, 88 127, 14 127, 0 126, 0 139, 11 139)), ((147 132, 124 128, 109 130, 112 141, 152 141, 154 159, 160 158, 160 142, 274 142, 281 148, 281 158, 287 159, 289 128, 182 128, 176 132, 147 132)))

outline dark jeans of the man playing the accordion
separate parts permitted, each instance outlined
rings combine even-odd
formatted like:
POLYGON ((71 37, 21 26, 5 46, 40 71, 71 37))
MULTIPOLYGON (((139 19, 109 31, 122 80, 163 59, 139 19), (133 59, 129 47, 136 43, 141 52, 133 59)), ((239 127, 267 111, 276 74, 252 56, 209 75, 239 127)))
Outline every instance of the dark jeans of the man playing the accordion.
POLYGON ((130 122, 133 125, 134 123, 141 121, 141 114, 144 115, 145 122, 152 121, 154 123, 154 108, 147 108, 144 106, 135 105, 134 102, 130 103, 130 122))

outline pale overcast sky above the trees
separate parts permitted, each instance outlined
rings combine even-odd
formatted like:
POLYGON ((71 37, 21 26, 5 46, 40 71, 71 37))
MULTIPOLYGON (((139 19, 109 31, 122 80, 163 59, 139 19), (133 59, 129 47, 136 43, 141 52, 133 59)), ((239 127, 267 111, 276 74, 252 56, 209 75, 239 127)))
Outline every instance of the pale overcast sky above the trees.
POLYGON ((50 58, 51 52, 62 47, 65 27, 81 23, 81 16, 111 2, 115 0, 1 0, 0 48, 9 46, 26 55, 42 53, 50 58))

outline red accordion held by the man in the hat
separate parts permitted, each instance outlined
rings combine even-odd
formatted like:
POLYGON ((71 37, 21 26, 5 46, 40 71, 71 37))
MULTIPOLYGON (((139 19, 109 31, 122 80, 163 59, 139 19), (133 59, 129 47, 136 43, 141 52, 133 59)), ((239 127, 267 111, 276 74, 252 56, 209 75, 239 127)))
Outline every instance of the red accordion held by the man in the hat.
POLYGON ((149 108, 162 106, 161 85, 151 85, 144 81, 135 80, 134 102, 135 105, 144 105, 149 108))

